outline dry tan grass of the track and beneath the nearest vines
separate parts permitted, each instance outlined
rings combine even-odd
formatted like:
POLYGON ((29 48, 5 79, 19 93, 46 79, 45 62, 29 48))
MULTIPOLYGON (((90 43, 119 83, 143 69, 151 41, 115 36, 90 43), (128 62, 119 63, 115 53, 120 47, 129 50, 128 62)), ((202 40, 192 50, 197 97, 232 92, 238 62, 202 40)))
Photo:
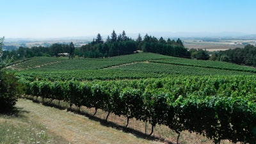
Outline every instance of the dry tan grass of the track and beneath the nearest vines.
MULTIPOLYGON (((57 100, 52 103, 58 105, 57 100)), ((23 125, 37 125, 35 133, 45 131, 46 139, 42 143, 47 143, 47 141, 51 143, 176 143, 177 139, 177 134, 164 125, 157 125, 152 136, 148 136, 151 131, 151 125, 148 123, 132 119, 125 128, 126 118, 124 116, 111 113, 106 122, 108 113, 100 109, 95 116, 93 116, 95 109, 85 107, 79 111, 74 106, 73 112, 67 112, 67 109, 64 109, 67 108, 65 102, 61 102, 61 110, 36 104, 31 100, 19 99, 17 108, 26 111, 20 112, 22 117, 26 117, 21 118, 23 125)), ((3 122, 20 125, 19 121, 19 116, 14 121, 13 118, 0 117, 0 125, 3 122)), ((210 144, 212 140, 184 131, 180 134, 179 143, 210 144)), ((221 143, 228 144, 229 142, 221 141, 221 143)))

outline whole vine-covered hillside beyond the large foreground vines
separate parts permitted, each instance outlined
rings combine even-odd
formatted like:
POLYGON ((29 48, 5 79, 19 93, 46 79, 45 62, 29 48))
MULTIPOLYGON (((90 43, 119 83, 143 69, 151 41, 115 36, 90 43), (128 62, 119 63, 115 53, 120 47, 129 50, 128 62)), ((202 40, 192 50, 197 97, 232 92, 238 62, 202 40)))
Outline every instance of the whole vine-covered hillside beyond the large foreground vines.
POLYGON ((256 69, 221 61, 189 60, 153 53, 104 59, 35 57, 11 65, 16 76, 29 79, 140 79, 150 77, 252 75, 256 69))

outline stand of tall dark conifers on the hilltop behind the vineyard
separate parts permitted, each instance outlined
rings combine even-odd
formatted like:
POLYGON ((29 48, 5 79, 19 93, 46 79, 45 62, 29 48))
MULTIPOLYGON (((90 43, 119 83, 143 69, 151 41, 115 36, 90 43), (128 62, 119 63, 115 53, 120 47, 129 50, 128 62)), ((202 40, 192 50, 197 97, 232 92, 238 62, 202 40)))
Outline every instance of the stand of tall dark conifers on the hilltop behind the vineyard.
POLYGON ((106 42, 98 34, 97 38, 93 38, 90 44, 81 47, 79 56, 83 56, 84 58, 100 58, 132 54, 136 51, 153 52, 184 58, 190 56, 188 49, 184 47, 180 39, 177 41, 170 40, 170 38, 164 40, 161 37, 158 40, 156 37, 148 36, 147 34, 142 38, 139 34, 138 38, 133 40, 126 35, 125 31, 122 34, 116 35, 115 30, 113 30, 110 37, 108 36, 106 42))

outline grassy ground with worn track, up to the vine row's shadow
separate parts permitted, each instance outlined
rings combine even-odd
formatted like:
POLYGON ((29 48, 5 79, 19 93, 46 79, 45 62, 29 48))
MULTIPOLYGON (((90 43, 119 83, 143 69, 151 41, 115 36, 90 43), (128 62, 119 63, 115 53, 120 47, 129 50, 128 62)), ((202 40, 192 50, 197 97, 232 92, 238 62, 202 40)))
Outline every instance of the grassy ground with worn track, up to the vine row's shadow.
POLYGON ((31 100, 16 106, 17 116, 0 115, 0 143, 157 143, 31 100))

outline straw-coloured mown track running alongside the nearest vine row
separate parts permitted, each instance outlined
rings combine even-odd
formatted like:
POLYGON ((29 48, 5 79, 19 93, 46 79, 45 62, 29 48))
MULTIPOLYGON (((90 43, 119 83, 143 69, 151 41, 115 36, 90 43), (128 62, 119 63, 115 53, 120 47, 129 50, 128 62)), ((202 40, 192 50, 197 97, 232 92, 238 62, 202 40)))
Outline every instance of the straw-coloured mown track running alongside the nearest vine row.
POLYGON ((81 115, 60 109, 36 104, 31 100, 19 99, 16 105, 28 111, 30 120, 36 121, 49 129, 49 132, 61 136, 70 143, 157 143, 136 138, 132 134, 100 125, 81 115))

